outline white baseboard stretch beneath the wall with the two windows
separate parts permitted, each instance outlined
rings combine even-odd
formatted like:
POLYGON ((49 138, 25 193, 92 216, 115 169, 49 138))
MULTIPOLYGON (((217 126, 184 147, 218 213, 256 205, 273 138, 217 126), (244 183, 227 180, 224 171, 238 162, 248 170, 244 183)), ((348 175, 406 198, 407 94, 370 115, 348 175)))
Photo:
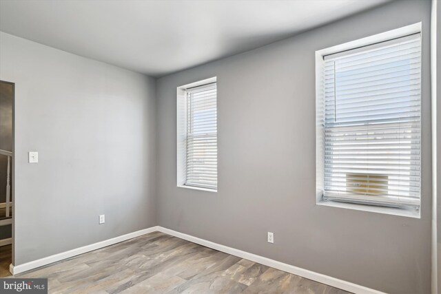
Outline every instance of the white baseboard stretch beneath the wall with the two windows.
POLYGON ((274 269, 280 269, 280 271, 286 271, 287 273, 292 273, 294 275, 300 275, 300 277, 306 277, 309 280, 320 282, 322 284, 327 284, 336 288, 340 288, 345 291, 360 294, 384 294, 383 292, 367 288, 365 286, 360 286, 358 284, 353 284, 351 282, 346 282, 344 280, 337 279, 335 277, 329 277, 329 275, 323 275, 321 273, 316 273, 314 271, 309 271, 307 269, 301 269, 300 267, 293 266, 291 264, 285 264, 283 262, 278 262, 276 260, 271 260, 269 258, 264 258, 263 256, 249 253, 246 251, 241 251, 234 249, 229 246, 224 246, 211 241, 207 241, 201 238, 194 237, 192 235, 187 235, 185 233, 179 233, 171 229, 164 227, 158 227, 158 231, 166 233, 168 235, 173 235, 177 238, 187 240, 196 244, 201 244, 203 246, 216 249, 231 255, 238 256, 239 258, 244 258, 246 260, 251 260, 252 262, 257 262, 259 264, 264 264, 266 266, 271 266, 274 269))

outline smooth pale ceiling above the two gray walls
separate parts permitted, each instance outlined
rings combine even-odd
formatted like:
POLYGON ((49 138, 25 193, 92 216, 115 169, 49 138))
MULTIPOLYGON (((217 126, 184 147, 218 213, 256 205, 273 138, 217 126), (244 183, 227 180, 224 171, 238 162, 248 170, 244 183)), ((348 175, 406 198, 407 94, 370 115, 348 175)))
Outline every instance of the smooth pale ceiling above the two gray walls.
POLYGON ((0 31, 163 76, 387 0, 0 0, 0 31))

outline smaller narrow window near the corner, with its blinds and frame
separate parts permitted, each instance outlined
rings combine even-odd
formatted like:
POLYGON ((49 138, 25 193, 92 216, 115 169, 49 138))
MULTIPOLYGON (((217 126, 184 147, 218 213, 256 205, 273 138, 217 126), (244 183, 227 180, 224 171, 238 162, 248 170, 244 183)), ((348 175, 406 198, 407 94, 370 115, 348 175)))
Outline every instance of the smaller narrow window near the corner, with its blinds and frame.
POLYGON ((217 150, 216 80, 178 87, 178 186, 216 191, 217 150))

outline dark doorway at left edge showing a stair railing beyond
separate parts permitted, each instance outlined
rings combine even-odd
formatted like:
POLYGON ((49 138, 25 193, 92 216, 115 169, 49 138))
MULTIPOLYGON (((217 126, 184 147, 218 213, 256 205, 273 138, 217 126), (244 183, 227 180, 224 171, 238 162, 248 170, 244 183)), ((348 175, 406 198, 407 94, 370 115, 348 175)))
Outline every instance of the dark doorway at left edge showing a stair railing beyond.
POLYGON ((0 81, 0 277, 12 263, 14 83, 0 81))

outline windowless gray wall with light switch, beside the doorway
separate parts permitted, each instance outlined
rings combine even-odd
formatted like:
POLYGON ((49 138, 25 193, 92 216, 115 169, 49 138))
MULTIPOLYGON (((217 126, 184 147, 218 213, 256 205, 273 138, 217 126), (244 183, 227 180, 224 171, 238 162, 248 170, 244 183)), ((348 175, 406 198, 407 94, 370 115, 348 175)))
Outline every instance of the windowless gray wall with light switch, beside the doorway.
POLYGON ((14 264, 156 225, 154 79, 4 33, 0 64, 16 86, 14 264))

